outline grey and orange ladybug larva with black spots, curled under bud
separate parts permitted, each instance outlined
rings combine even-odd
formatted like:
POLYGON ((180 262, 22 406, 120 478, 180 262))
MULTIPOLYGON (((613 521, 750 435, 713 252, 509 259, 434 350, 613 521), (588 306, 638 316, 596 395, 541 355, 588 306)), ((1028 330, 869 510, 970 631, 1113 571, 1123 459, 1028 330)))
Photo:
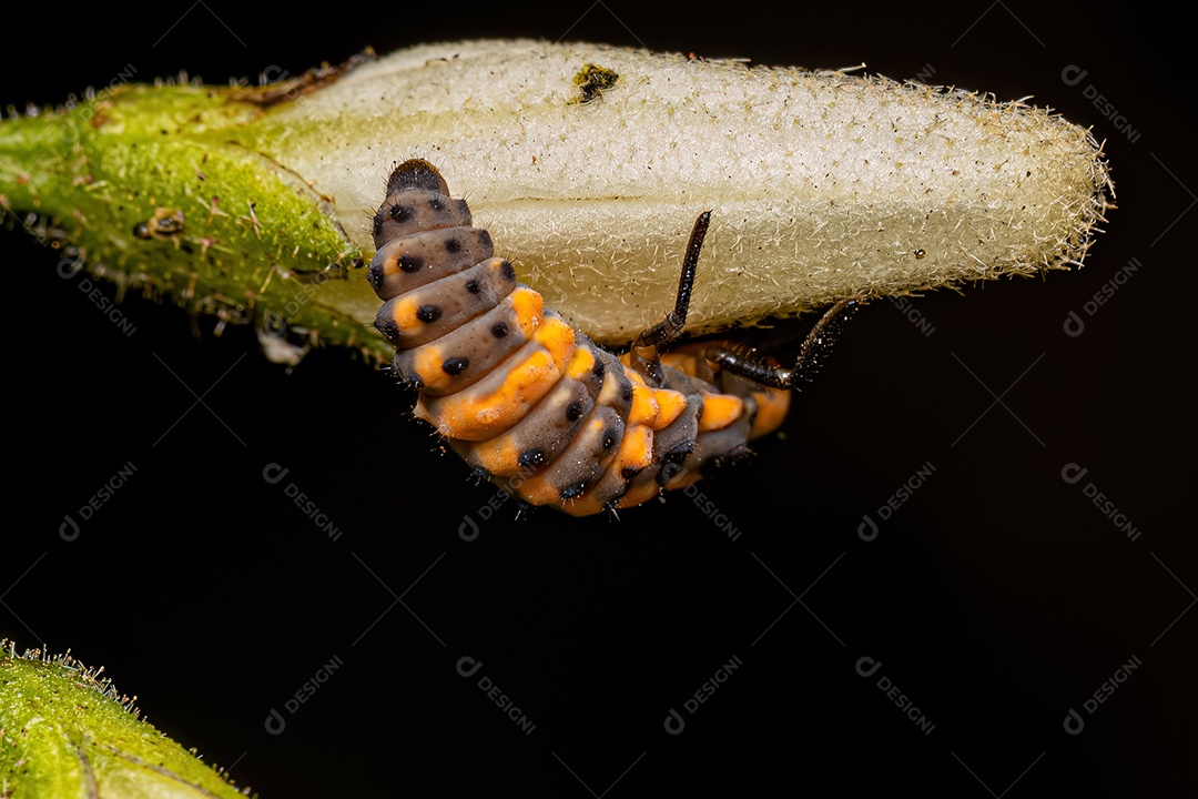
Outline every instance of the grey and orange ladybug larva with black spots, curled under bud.
POLYGON ((673 310, 617 358, 516 280, 432 164, 404 162, 374 217, 368 279, 394 373, 419 392, 416 416, 478 476, 577 516, 641 504, 746 454, 859 303, 823 316, 794 369, 720 345, 666 352, 686 322, 709 222, 707 211, 695 222, 673 310))

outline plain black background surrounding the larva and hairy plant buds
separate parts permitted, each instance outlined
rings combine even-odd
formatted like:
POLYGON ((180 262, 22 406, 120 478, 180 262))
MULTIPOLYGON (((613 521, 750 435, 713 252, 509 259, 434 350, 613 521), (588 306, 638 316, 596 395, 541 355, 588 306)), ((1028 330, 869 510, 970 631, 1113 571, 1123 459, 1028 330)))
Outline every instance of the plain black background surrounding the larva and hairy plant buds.
POLYGON ((736 540, 674 496, 618 523, 516 521, 504 507, 465 541, 464 515, 478 519, 494 491, 464 482, 373 367, 322 351, 288 374, 250 331, 217 338, 211 320, 138 297, 122 305, 137 326, 126 338, 55 274, 56 254, 5 231, 16 477, 0 635, 103 664, 151 722, 266 798, 1192 788, 1187 25, 1133 4, 406 5, 8 10, 0 103, 61 102, 126 65, 139 79, 224 83, 367 44, 478 36, 865 61, 1031 95, 1093 126, 1120 207, 1079 272, 914 301, 931 335, 889 302, 859 314, 785 438, 703 484, 736 540), (1077 85, 1061 79, 1069 65, 1087 71, 1077 85), (1087 315, 1133 258, 1140 268, 1087 315), (1064 332, 1071 310, 1079 337, 1064 332), (129 461, 128 484, 77 540, 60 538, 63 516, 129 461), (338 540, 262 479, 271 462, 338 540), (926 484, 863 540, 863 516, 928 462, 926 484), (1089 470, 1081 483, 1061 479, 1071 462, 1089 470), (473 678, 455 671, 464 656, 483 662, 473 678), (855 670, 866 656, 882 662, 870 678, 855 670), (688 713, 733 658, 743 665, 688 713), (1140 667, 1087 713, 1132 658, 1140 667), (479 690, 483 676, 531 734, 479 690), (282 734, 266 731, 272 708, 282 734), (665 731, 671 708, 682 734, 665 731), (1063 728, 1071 708, 1077 736, 1063 728))

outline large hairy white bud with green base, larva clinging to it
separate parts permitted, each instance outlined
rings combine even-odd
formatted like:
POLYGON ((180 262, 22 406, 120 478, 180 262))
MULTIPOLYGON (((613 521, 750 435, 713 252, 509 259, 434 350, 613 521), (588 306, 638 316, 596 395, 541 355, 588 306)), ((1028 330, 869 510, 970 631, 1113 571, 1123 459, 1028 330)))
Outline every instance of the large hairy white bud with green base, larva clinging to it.
POLYGON ((418 47, 264 89, 119 85, 0 123, 0 196, 108 277, 387 357, 356 268, 424 158, 546 304, 606 343, 1076 266, 1112 207, 1089 131, 845 72, 531 41, 418 47))

